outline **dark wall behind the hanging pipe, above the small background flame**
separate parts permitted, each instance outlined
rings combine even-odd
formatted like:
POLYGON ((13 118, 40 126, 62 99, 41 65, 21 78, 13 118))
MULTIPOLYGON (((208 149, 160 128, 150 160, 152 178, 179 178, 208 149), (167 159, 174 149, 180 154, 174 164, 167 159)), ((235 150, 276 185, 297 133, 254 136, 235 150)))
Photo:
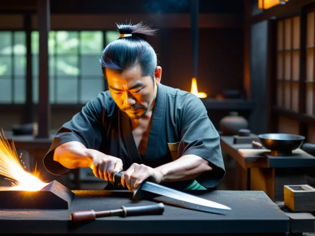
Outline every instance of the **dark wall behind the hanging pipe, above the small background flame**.
MULTIPOLYGON (((192 49, 190 29, 169 29, 158 55, 162 83, 190 91, 192 49), (165 50, 166 49, 166 50, 165 50), (165 68, 166 67, 166 68, 165 68), (165 68, 165 70, 164 70, 165 68)), ((243 88, 243 31, 241 29, 200 29, 198 90, 215 96, 225 89, 243 88)))

